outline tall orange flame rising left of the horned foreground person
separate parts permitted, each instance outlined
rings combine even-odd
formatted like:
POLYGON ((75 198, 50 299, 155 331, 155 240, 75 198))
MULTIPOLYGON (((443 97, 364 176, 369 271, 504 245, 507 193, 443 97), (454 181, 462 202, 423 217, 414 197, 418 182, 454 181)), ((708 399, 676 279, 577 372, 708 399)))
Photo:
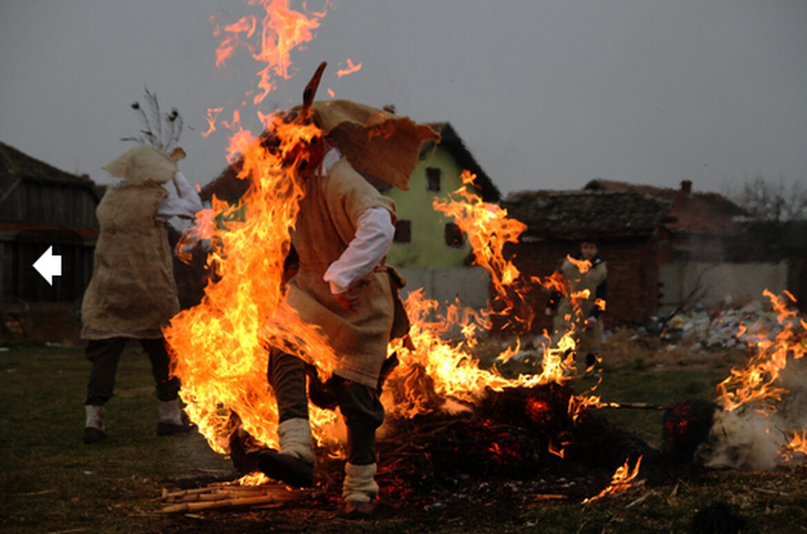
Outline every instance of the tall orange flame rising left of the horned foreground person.
MULTIPOLYGON (((283 0, 250 2, 258 3, 266 10, 261 31, 252 15, 236 23, 217 24, 214 30, 215 35, 224 35, 217 65, 223 65, 239 47, 266 64, 258 73, 263 93, 254 98, 256 103, 270 90, 272 75, 291 77, 291 50, 312 39, 312 29, 324 15, 307 18, 290 10, 283 0), (250 43, 257 35, 260 42, 250 43)), ((207 135, 215 131, 221 111, 208 110, 207 135)), ((240 158, 238 178, 248 180, 249 188, 236 205, 214 197, 212 207, 199 212, 183 238, 210 241, 211 280, 202 302, 176 315, 164 331, 173 355, 172 370, 182 380, 180 394, 186 411, 220 453, 228 451, 228 438, 239 425, 259 444, 276 445, 277 407, 266 380, 267 347, 316 360, 324 378, 337 358, 322 333, 283 304, 283 261, 303 194, 290 170, 295 165, 284 165, 284 161, 295 146, 321 132, 314 125, 286 124, 274 115, 259 117, 276 132, 277 150, 263 148, 256 136, 240 126, 239 110, 233 111, 232 123, 222 123, 233 131, 228 161, 240 158)), ((312 407, 312 427, 320 443, 333 440, 330 425, 336 418, 332 412, 312 407)))

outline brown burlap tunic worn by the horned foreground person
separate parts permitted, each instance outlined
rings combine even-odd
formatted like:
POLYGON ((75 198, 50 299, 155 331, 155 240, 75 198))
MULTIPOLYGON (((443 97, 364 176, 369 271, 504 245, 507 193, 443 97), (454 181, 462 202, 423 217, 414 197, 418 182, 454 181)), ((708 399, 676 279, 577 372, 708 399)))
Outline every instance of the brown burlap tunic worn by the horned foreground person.
POLYGON ((345 158, 324 176, 307 180, 292 234, 299 271, 289 282, 287 302, 304 321, 320 326, 328 336, 341 357, 335 374, 375 387, 387 357, 397 288, 382 261, 353 283, 350 290, 362 301, 356 311, 345 311, 323 280, 328 266, 353 240, 359 216, 372 207, 387 209, 395 222, 395 203, 370 186, 345 158))

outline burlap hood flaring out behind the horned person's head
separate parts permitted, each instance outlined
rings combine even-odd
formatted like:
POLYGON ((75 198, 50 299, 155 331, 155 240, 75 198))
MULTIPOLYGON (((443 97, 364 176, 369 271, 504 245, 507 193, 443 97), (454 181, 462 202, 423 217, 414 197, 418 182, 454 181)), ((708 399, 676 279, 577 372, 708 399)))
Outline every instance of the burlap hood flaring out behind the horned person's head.
POLYGON ((313 102, 316 123, 362 173, 404 191, 417 165, 420 147, 440 136, 425 124, 349 100, 313 102))

